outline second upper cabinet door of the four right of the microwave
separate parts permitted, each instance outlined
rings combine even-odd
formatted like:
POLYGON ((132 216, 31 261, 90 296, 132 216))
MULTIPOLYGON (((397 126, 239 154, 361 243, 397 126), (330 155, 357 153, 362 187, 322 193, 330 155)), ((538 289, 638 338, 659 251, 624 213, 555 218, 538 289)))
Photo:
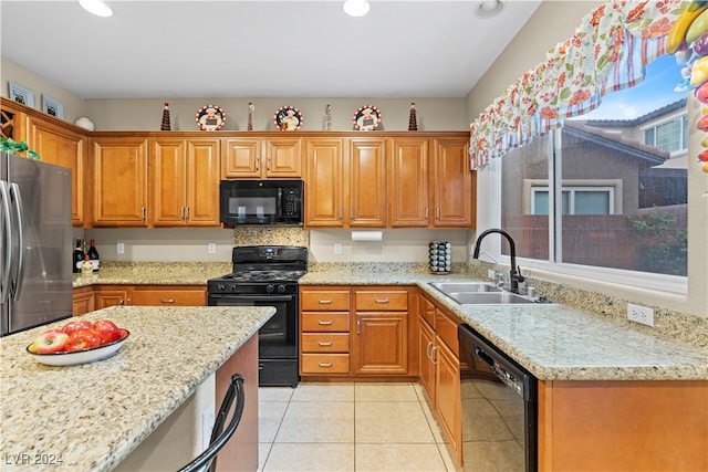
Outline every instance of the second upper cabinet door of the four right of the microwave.
POLYGON ((352 138, 350 141, 348 224, 386 228, 386 140, 352 138))

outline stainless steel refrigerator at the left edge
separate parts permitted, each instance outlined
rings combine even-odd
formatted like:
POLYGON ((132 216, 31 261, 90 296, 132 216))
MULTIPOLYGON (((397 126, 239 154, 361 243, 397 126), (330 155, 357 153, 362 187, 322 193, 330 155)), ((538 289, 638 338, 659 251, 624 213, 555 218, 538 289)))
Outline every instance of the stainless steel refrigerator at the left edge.
POLYGON ((71 170, 0 153, 0 336, 72 314, 71 170))

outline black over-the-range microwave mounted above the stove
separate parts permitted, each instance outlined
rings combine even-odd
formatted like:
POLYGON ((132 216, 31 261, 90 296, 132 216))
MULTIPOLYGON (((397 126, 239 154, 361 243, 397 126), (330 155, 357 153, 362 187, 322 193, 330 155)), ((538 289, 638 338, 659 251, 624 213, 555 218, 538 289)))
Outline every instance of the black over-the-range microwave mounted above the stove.
POLYGON ((221 180, 221 222, 302 224, 302 180, 221 180))

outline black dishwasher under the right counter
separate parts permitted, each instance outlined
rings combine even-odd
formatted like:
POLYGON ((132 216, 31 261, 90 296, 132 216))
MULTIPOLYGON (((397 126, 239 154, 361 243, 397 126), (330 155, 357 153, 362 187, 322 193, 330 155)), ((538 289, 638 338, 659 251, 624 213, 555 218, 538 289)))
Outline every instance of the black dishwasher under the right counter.
POLYGON ((464 470, 535 472, 537 378, 466 324, 458 337, 464 470))

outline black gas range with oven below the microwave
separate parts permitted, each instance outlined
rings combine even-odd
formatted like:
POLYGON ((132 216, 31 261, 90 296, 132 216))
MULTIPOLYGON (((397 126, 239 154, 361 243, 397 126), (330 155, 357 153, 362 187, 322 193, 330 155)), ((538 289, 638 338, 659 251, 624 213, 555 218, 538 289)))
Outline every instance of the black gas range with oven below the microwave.
POLYGON ((298 364, 298 280, 308 272, 308 248, 233 248, 233 272, 207 281, 210 306, 274 306, 258 332, 259 386, 300 382, 298 364))

